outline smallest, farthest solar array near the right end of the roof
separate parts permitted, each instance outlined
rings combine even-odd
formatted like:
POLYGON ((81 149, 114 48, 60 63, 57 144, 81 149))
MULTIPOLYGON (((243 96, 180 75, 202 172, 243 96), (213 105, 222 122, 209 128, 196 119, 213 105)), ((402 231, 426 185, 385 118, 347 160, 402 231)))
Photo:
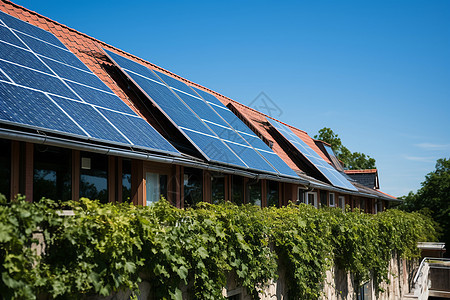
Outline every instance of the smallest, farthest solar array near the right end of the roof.
POLYGON ((289 127, 280 122, 269 120, 269 123, 287 139, 306 159, 308 159, 320 173, 336 187, 357 191, 357 189, 335 168, 323 160, 310 146, 299 138, 289 127))

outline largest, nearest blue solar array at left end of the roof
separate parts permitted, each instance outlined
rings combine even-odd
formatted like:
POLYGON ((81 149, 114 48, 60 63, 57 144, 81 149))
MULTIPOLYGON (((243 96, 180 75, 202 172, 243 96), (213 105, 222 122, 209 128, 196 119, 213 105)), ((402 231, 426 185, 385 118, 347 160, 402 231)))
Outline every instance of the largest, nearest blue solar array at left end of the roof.
POLYGON ((180 155, 48 31, 0 12, 0 122, 180 155))

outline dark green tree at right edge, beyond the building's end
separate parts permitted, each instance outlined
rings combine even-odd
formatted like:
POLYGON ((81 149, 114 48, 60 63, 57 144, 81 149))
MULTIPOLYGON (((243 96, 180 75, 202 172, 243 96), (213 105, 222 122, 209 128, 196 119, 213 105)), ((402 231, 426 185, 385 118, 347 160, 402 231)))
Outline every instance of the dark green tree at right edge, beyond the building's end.
POLYGON ((409 192, 400 197, 400 209, 422 211, 430 214, 442 229, 442 241, 446 243, 447 255, 450 252, 450 158, 440 158, 436 170, 425 176, 417 193, 409 192))

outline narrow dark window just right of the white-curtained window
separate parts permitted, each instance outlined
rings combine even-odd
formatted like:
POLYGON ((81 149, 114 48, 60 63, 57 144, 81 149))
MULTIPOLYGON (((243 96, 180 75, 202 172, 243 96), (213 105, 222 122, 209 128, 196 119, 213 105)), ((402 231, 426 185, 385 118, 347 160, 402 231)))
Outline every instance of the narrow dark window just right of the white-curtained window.
POLYGON ((184 207, 195 206, 203 200, 203 171, 184 169, 184 207))

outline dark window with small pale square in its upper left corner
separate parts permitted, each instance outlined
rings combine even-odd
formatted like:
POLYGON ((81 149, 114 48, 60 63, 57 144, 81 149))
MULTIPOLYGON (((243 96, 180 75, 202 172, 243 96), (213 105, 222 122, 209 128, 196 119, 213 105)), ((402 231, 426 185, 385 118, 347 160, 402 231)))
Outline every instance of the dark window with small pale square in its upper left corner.
POLYGON ((81 152, 80 197, 108 202, 108 158, 81 152))

